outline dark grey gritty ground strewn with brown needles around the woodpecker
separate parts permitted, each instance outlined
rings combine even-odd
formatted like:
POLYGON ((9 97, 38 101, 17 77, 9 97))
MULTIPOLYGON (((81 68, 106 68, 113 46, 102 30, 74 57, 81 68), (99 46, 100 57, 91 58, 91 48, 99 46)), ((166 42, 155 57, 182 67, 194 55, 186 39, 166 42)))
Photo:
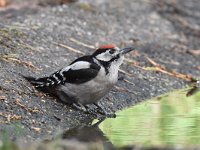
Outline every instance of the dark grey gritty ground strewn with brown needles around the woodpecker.
POLYGON ((121 67, 124 80, 101 100, 109 113, 189 84, 149 68, 147 56, 200 78, 199 0, 82 0, 19 8, 0 11, 0 130, 12 139, 41 139, 94 119, 35 91, 19 73, 49 75, 98 45, 137 48, 121 67))

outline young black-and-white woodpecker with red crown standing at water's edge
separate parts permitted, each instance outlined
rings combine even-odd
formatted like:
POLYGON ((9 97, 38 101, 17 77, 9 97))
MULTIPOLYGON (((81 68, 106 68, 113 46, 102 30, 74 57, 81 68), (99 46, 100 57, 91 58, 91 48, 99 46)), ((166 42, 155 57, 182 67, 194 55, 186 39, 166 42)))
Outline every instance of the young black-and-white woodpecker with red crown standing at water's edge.
POLYGON ((105 115, 98 101, 116 84, 124 55, 134 49, 103 45, 92 55, 80 57, 50 76, 24 78, 37 90, 54 95, 79 110, 87 111, 88 105, 93 104, 105 115))

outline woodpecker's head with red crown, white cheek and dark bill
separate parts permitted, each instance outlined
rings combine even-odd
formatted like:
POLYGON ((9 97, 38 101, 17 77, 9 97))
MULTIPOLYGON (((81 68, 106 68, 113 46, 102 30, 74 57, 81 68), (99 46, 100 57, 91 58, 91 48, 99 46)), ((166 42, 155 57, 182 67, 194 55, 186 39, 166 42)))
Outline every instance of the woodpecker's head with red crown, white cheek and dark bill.
POLYGON ((134 47, 118 48, 115 45, 103 45, 96 49, 92 56, 104 65, 120 66, 123 62, 124 55, 132 50, 134 47))

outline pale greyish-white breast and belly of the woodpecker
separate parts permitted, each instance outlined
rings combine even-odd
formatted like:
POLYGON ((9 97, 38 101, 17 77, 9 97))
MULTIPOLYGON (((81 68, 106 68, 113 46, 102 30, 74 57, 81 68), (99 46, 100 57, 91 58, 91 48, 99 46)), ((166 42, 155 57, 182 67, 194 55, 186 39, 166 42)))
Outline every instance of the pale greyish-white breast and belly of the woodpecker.
MULTIPOLYGON (((113 68, 114 69, 114 68, 113 68)), ((117 82, 118 69, 113 70, 106 75, 102 67, 98 75, 91 81, 83 84, 66 83, 60 90, 64 91, 70 97, 74 97, 81 104, 91 104, 104 97, 117 82)))

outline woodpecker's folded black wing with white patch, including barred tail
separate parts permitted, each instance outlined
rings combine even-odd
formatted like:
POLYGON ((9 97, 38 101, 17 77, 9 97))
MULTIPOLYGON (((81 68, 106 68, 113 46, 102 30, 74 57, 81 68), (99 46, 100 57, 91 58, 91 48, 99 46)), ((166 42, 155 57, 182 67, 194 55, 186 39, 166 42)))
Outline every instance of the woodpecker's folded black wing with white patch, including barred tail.
POLYGON ((80 57, 69 66, 56 71, 48 77, 24 77, 38 89, 57 87, 65 83, 81 84, 95 78, 100 66, 89 56, 80 57))

